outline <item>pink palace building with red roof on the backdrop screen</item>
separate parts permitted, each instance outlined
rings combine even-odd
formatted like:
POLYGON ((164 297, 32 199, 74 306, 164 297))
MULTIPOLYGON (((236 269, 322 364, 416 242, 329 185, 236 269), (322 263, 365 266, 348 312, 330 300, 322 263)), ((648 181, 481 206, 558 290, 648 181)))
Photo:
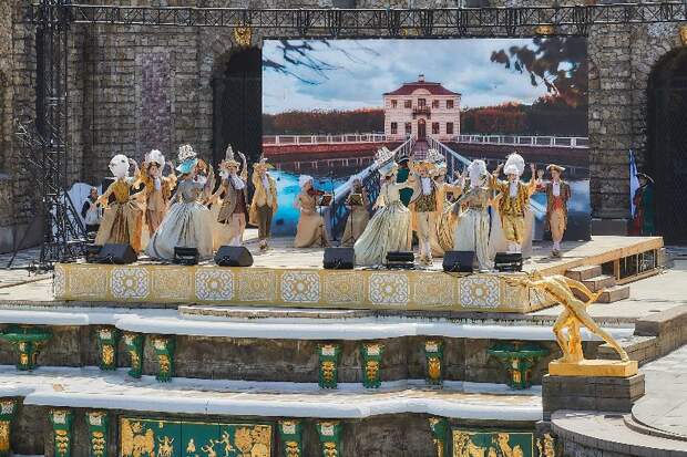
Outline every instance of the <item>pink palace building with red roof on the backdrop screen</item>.
POLYGON ((449 91, 441 83, 418 81, 403 83, 384 97, 384 134, 393 139, 410 135, 418 139, 431 136, 449 141, 460 135, 461 94, 449 91))

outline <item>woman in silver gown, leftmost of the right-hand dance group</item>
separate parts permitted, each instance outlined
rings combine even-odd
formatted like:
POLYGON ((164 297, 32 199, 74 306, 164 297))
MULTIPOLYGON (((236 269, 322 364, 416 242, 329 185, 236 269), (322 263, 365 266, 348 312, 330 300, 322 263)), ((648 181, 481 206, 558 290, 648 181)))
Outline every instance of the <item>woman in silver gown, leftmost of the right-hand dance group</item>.
POLYGON ((393 162, 379 169, 383 180, 375 202, 377 212, 353 246, 357 264, 380 266, 384 263, 387 252, 411 249, 411 215, 401 200, 400 191, 412 188, 413 178, 397 183, 397 170, 398 165, 393 162))

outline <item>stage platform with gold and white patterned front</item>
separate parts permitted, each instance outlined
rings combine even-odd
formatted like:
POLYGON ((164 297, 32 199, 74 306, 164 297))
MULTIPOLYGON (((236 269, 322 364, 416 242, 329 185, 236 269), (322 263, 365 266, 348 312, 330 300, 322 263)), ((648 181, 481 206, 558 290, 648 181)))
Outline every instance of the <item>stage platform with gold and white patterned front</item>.
MULTIPOLYGON (((132 303, 199 303, 367 310, 433 310, 527 313, 554 303, 540 292, 507 279, 524 273, 445 273, 441 259, 414 270, 325 270, 322 249, 295 249, 274 240, 256 253, 250 268, 162 264, 142 259, 134 264, 85 262, 55 266, 57 300, 132 303)), ((563 257, 548 257, 550 243, 534 247, 524 270, 564 273, 599 266, 663 247, 660 237, 594 237, 565 242, 563 257)))

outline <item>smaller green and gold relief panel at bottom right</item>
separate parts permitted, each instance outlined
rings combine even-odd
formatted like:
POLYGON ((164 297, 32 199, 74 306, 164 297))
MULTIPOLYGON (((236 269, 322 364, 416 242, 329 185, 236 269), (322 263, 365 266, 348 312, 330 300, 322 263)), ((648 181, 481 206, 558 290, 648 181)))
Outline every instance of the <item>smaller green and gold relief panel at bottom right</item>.
POLYGON ((535 457, 534 434, 502 430, 451 430, 453 457, 535 457))

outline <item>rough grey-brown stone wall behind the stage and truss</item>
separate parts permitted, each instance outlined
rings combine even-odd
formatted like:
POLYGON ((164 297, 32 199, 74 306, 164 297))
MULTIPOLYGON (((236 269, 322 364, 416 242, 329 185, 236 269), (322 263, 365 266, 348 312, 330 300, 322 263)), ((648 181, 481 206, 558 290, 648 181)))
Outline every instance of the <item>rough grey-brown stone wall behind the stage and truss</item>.
MULTIPOLYGON (((11 189, 14 201, 9 211, 12 216, 2 218, 0 227, 25 225, 33 211, 19 169, 10 165, 16 148, 11 141, 11 118, 22 110, 31 112, 35 97, 33 30, 20 23, 25 2, 12 0, 0 7, 0 21, 4 25, 0 27, 0 173, 9 176, 9 181, 0 178, 0 188, 6 189, 0 191, 11 189)), ((331 7, 335 3, 341 2, 256 0, 249 7, 331 7)), ((351 6, 348 3, 345 6, 351 6)), ((358 8, 407 6, 407 2, 378 0, 352 3, 358 8)), ((490 3, 531 6, 521 0, 490 3)), ((246 6, 217 0, 168 0, 155 4, 246 6)), ((443 0, 413 2, 418 8, 453 4, 443 0)), ((258 45, 259 33, 256 31, 254 35, 258 45)), ((647 162, 648 76, 653 65, 678 46, 677 24, 594 27, 589 31, 591 198, 596 218, 626 218, 629 214, 627 152, 629 148, 636 152, 640 167, 647 162)), ((229 30, 74 25, 69 55, 70 180, 98 184, 107 174, 112 155, 123 153, 141 160, 153 146, 174 156, 176 147, 187 142, 208 157, 213 148, 212 79, 224 70, 235 51, 229 30)))

